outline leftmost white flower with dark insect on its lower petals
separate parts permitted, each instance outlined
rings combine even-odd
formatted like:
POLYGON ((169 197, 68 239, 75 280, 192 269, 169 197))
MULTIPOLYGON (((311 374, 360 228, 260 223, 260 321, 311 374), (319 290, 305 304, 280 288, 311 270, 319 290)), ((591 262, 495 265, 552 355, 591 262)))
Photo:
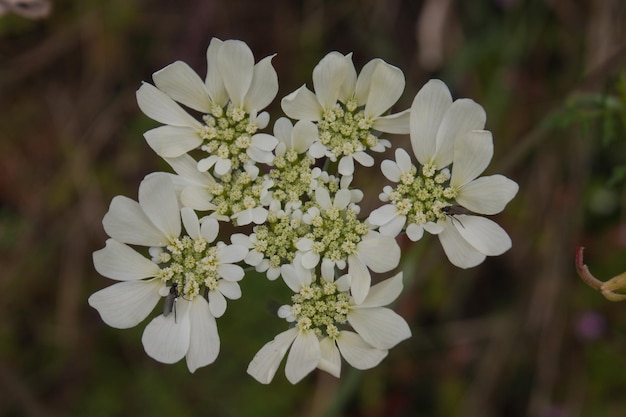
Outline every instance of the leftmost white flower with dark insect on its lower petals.
POLYGON ((217 220, 199 221, 192 209, 180 209, 173 184, 161 174, 141 182, 139 202, 115 197, 103 225, 111 238, 94 252, 94 266, 120 282, 92 294, 89 305, 105 323, 124 329, 146 319, 166 297, 174 311, 164 309, 148 324, 146 353, 164 363, 186 357, 191 372, 212 363, 220 348, 215 318, 224 313, 225 298, 241 296, 237 281, 244 271, 235 263, 248 250, 215 242, 217 220), (129 245, 147 247, 150 258, 129 245))

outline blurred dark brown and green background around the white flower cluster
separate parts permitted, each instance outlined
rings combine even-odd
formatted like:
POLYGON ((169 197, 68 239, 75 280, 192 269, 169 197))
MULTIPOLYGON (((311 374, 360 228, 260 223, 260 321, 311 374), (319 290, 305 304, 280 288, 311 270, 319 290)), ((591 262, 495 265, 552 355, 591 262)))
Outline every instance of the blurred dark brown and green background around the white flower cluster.
MULTIPOLYGON (((574 249, 603 280, 626 269, 625 138, 620 0, 59 0, 44 19, 0 16, 0 415, 623 417, 626 303, 578 279, 574 249), (396 110, 432 77, 485 107, 486 174, 520 184, 495 216, 513 249, 460 270, 437 239, 402 241, 396 309, 413 337, 373 370, 249 377, 284 329, 286 294, 256 276, 218 321, 220 357, 195 374, 147 357, 145 324, 111 329, 87 305, 111 284, 91 263, 111 198, 167 169, 135 90, 175 60, 204 77, 213 36, 278 54, 273 119, 332 50, 400 67, 396 110)), ((357 178, 375 184, 364 210, 380 177, 357 178)))

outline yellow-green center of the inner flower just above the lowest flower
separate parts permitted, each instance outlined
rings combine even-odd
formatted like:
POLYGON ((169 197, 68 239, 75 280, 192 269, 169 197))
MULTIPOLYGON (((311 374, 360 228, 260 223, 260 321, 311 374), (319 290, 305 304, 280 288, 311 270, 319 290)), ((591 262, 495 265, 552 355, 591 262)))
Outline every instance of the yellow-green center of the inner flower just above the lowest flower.
POLYGON ((306 235, 313 240, 313 252, 338 262, 357 252, 357 245, 369 232, 367 224, 357 219, 352 208, 322 209, 311 217, 312 230, 306 235))

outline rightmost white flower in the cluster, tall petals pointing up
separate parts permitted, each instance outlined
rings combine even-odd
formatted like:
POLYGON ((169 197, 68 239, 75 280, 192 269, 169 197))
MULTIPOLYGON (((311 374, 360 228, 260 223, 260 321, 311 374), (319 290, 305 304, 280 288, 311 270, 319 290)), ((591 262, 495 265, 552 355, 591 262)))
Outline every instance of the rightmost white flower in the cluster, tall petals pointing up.
POLYGON ((493 140, 483 130, 485 112, 469 99, 452 102, 448 88, 429 81, 411 107, 411 145, 421 167, 402 149, 395 161, 383 161, 385 177, 398 185, 385 187, 383 201, 369 222, 382 234, 403 229, 419 240, 424 230, 437 234, 456 266, 469 268, 511 247, 507 233, 492 220, 473 214, 501 212, 518 185, 502 176, 478 176, 493 155, 493 140))

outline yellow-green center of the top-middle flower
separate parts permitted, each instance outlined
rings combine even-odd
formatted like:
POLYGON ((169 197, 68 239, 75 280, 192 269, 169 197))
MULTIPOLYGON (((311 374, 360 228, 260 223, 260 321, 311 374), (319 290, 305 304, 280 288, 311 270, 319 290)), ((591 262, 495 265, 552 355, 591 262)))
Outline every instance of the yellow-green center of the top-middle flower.
POLYGON ((372 134, 373 120, 365 116, 363 109, 355 99, 349 99, 324 111, 318 123, 319 138, 335 158, 378 144, 378 138, 372 134))

